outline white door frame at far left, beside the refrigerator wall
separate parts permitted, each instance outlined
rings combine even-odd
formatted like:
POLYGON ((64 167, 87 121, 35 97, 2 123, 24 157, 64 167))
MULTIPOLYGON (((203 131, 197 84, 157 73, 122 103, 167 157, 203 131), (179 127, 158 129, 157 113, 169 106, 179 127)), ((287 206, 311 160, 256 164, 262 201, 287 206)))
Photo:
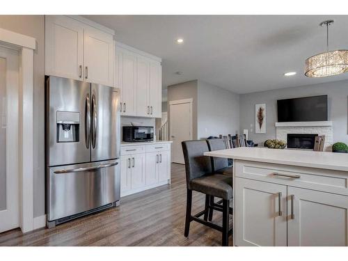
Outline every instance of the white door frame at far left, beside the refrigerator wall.
POLYGON ((34 228, 33 217, 33 51, 36 40, 0 28, 0 44, 19 51, 19 226, 34 228))

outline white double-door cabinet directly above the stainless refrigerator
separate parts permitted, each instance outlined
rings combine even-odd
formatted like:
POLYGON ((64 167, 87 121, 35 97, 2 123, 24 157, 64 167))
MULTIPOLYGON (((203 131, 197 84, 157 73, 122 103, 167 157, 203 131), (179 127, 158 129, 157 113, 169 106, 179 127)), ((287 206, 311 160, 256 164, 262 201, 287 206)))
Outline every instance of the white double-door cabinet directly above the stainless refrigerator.
POLYGON ((46 16, 45 74, 113 86, 113 33, 96 26, 64 15, 46 16))

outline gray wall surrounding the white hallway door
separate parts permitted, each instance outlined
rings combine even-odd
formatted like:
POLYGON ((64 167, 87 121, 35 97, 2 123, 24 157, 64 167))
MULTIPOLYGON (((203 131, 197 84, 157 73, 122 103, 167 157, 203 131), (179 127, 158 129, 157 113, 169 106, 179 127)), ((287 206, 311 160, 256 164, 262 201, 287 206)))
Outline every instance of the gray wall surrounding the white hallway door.
MULTIPOLYGON (((192 118, 193 118, 193 139, 197 139, 197 102, 198 102, 198 81, 187 81, 182 84, 175 84, 168 86, 168 104, 171 101, 175 100, 184 100, 184 99, 193 99, 192 104, 192 118)), ((168 119, 170 119, 168 110, 168 119)), ((171 122, 168 121, 168 125, 171 125, 171 122)), ((168 126, 168 132, 171 129, 168 126)), ((170 133, 168 134, 171 135, 170 133)))

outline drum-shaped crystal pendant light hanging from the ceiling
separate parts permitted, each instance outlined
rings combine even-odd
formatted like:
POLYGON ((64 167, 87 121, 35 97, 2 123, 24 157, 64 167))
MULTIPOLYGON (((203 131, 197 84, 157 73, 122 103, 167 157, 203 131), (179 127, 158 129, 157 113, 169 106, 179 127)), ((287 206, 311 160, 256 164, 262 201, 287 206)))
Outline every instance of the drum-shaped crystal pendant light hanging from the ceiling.
POLYGON ((329 51, 329 26, 334 20, 326 20, 320 26, 326 26, 326 52, 311 56, 306 60, 307 77, 327 77, 348 72, 348 50, 329 51))

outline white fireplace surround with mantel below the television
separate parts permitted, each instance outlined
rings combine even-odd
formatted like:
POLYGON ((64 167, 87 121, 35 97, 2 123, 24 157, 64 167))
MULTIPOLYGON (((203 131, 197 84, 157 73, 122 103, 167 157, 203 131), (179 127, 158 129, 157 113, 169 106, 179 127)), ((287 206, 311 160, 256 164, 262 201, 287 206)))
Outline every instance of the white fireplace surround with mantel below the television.
POLYGON ((333 132, 331 121, 276 122, 276 139, 287 141, 287 134, 325 135, 324 151, 331 151, 333 132))

